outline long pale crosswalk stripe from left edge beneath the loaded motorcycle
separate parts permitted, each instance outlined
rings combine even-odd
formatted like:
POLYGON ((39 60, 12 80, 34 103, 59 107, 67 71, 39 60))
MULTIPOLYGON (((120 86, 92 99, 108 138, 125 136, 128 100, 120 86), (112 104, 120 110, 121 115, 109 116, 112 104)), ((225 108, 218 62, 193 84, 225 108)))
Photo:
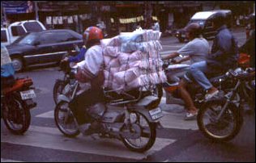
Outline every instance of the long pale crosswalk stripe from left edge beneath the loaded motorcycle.
POLYGON ((156 138, 156 142, 150 150, 145 153, 134 153, 127 149, 119 140, 93 140, 90 136, 85 137, 81 135, 72 139, 63 136, 56 127, 31 126, 28 132, 23 136, 2 134, 1 132, 1 142, 141 160, 156 151, 160 151, 165 146, 172 144, 175 140, 156 138))

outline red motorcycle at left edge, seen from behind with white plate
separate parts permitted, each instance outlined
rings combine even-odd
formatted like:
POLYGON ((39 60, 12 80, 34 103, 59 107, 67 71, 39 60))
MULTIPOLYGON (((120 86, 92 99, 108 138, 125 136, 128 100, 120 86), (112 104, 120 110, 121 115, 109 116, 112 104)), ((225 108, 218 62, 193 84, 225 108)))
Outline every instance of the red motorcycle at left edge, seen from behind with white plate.
POLYGON ((13 86, 6 86, 1 94, 1 118, 14 134, 23 134, 31 122, 30 109, 36 107, 31 78, 17 78, 13 86))

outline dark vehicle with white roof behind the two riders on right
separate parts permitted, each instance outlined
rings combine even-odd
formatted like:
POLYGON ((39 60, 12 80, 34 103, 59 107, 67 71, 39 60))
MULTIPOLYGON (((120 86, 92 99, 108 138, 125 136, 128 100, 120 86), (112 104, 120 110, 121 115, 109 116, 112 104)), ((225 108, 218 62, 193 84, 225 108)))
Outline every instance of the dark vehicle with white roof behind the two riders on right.
MULTIPOLYGON (((197 12, 191 17, 190 22, 187 23, 187 25, 190 23, 198 23, 202 28, 203 37, 207 40, 213 39, 217 31, 214 27, 212 27, 212 17, 219 12, 223 12, 226 15, 227 25, 228 27, 231 27, 231 10, 209 10, 197 12)), ((178 30, 175 36, 181 43, 187 40, 185 31, 183 29, 178 30)))

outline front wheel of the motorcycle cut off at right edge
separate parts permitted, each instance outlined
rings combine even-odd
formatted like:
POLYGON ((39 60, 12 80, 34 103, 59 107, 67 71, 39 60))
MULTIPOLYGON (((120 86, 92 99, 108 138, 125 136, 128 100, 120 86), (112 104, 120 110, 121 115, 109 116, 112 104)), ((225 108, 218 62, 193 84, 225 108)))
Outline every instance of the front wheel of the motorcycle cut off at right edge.
POLYGON ((222 107, 224 102, 208 102, 198 111, 197 123, 199 130, 203 132, 203 135, 207 138, 215 141, 228 141, 232 140, 239 133, 242 123, 243 116, 239 108, 237 108, 233 103, 229 103, 224 115, 220 121, 216 121, 216 117, 222 107), (205 115, 211 114, 211 123, 205 124, 205 115), (215 121, 215 122, 213 122, 215 121), (224 129, 229 127, 230 123, 233 124, 230 131, 224 133, 224 129))

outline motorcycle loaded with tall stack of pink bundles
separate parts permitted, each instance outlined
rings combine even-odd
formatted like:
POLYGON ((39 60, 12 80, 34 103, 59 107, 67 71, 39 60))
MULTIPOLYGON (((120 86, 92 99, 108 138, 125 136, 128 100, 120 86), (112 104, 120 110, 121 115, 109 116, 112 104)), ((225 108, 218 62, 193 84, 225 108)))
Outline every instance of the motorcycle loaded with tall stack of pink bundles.
MULTIPOLYGON (((70 72, 70 77, 75 78, 76 69, 72 68, 70 72)), ((68 107, 78 91, 79 81, 74 81, 66 87, 64 94, 58 96, 60 102, 54 110, 58 129, 69 137, 79 135, 75 117, 68 107)), ((97 133, 101 138, 121 140, 130 150, 142 153, 155 143, 156 126, 163 115, 160 107, 157 107, 158 98, 143 94, 142 88, 135 92, 117 95, 115 90, 105 90, 107 102, 87 108, 87 113, 103 126, 97 133)))

